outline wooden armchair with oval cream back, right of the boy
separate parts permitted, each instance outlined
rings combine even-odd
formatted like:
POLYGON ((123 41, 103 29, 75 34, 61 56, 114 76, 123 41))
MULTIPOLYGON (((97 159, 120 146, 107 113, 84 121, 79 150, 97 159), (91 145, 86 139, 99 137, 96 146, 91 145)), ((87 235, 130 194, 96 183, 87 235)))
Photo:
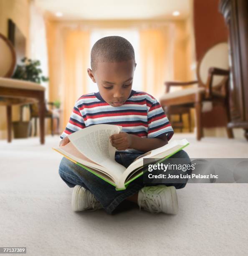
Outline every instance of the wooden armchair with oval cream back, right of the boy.
MULTIPOLYGON (((228 84, 230 78, 228 65, 228 44, 225 42, 211 47, 197 64, 197 80, 190 82, 165 82, 165 94, 160 97, 162 108, 168 118, 177 109, 196 110, 197 140, 203 137, 202 111, 212 110, 214 105, 222 105, 228 122, 230 121, 228 84), (197 84, 195 87, 189 85, 197 84), (170 92, 170 87, 180 86, 185 89, 170 92)), ((227 124, 226 124, 227 126, 227 124)), ((233 131, 227 128, 228 138, 233 138, 233 131)))

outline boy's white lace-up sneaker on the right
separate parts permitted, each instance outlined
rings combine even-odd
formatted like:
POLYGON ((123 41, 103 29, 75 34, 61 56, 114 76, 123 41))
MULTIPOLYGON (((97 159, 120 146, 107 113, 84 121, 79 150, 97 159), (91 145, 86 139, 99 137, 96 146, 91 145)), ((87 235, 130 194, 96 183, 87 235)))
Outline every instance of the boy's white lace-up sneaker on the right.
POLYGON ((174 186, 166 187, 165 185, 143 187, 139 190, 138 205, 139 210, 142 208, 152 213, 177 214, 176 188, 174 186))

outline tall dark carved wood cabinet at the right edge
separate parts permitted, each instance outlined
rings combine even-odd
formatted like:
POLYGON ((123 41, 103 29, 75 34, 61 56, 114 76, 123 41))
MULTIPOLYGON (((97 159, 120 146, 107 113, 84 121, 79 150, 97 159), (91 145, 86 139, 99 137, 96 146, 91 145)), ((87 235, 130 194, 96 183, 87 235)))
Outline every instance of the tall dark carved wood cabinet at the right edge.
POLYGON ((248 140, 248 0, 221 0, 219 10, 229 29, 232 77, 230 128, 243 128, 248 140))

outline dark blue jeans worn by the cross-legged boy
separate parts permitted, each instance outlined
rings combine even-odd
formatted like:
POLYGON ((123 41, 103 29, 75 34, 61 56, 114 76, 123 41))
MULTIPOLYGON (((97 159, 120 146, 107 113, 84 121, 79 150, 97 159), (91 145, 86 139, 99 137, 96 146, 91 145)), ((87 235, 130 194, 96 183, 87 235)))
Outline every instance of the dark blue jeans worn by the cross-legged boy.
MULTIPOLYGON (((126 168, 142 154, 132 154, 132 153, 119 153, 115 154, 115 161, 119 164, 125 166, 126 168)), ((181 150, 170 157, 172 158, 181 158, 186 159, 190 162, 190 158, 184 150, 181 150)), ((165 160, 166 161, 166 160, 165 160)), ((162 163, 164 163, 163 161, 162 163)), ((191 174, 192 170, 188 170, 187 173, 191 174)), ((173 174, 173 173, 172 173, 173 174)), ((112 214, 116 207, 128 197, 139 192, 142 187, 150 185, 155 186, 158 184, 144 184, 143 177, 135 179, 133 182, 129 183, 125 190, 116 191, 115 187, 111 184, 105 182, 101 178, 87 171, 81 166, 74 164, 72 161, 63 157, 59 166, 59 175, 64 182, 69 187, 75 187, 80 185, 88 189, 96 199, 101 203, 107 213, 112 214)), ((185 187, 187 179, 184 183, 175 183, 175 184, 165 184, 166 186, 174 186, 176 189, 181 189, 185 187)))

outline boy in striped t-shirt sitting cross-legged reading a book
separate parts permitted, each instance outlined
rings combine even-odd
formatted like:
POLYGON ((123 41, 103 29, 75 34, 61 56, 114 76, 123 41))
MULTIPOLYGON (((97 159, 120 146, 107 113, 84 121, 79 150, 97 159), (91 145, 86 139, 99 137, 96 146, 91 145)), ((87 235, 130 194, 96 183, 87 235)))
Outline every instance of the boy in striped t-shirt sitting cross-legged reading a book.
MULTIPOLYGON (((60 146, 69 142, 68 134, 90 125, 121 125, 122 132, 112 135, 110 140, 116 148, 115 160, 128 167, 144 152, 168 143, 174 131, 159 102, 146 92, 132 90, 136 65, 134 49, 125 38, 108 36, 94 44, 91 69, 87 71, 99 92, 83 95, 76 101, 60 146)), ((189 159, 183 150, 173 157, 189 159)), ((124 200, 152 213, 176 214, 176 188, 185 187, 187 182, 145 187, 139 177, 127 189, 116 191, 114 186, 66 158, 61 160, 59 175, 69 187, 74 187, 74 211, 104 208, 109 214, 124 200)))

